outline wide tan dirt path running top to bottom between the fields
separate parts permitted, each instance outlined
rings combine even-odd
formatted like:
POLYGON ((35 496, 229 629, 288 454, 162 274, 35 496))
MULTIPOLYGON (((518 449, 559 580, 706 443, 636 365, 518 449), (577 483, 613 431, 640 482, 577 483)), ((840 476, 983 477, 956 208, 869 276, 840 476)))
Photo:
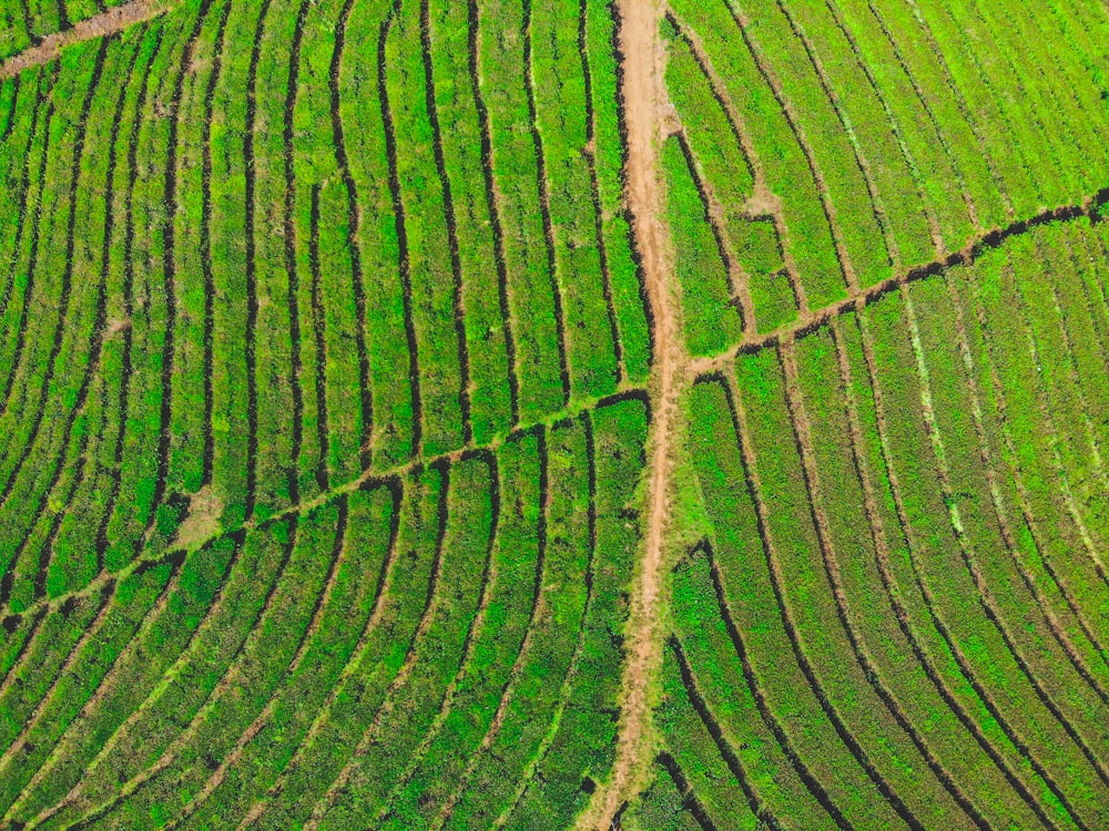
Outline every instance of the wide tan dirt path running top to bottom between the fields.
POLYGON ((673 273, 669 240, 662 222, 658 151, 663 105, 663 52, 659 22, 660 0, 620 0, 620 51, 623 66, 624 120, 628 130, 628 202, 635 242, 642 256, 647 288, 654 312, 655 366, 652 378, 653 439, 648 524, 643 558, 632 596, 629 619, 628 664, 623 677, 623 706, 617 759, 607 787, 597 792, 578 822, 579 829, 609 829, 621 803, 632 796, 638 774, 650 759, 644 740, 650 719, 649 681, 661 661, 659 594, 663 543, 670 513, 671 432, 685 359, 671 291, 673 273))

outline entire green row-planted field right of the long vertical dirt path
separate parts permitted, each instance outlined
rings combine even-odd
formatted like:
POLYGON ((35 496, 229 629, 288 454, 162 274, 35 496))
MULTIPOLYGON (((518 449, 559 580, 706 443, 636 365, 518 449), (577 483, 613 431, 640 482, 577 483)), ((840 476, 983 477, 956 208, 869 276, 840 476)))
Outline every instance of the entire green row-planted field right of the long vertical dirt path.
POLYGON ((1106 828, 1107 10, 674 0, 662 31, 720 357, 629 827, 1106 828))

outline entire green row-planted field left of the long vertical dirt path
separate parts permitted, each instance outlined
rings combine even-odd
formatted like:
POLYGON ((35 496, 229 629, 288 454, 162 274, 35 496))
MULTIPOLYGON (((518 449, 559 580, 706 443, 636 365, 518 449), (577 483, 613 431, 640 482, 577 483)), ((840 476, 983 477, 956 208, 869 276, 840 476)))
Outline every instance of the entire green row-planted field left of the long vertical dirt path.
POLYGON ((617 24, 197 0, 2 83, 0 827, 564 827, 607 779, 617 24))

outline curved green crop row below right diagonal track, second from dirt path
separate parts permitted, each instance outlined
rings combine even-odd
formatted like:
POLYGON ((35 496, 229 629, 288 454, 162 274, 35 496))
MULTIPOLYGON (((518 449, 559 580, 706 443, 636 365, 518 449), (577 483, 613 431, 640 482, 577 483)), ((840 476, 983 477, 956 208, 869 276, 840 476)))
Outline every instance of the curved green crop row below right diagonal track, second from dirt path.
POLYGON ((807 419, 795 399, 787 400, 782 363, 781 353, 771 350, 741 356, 736 376, 751 442, 751 475, 763 504, 774 506, 765 519, 767 547, 776 561, 771 579, 781 585, 775 595, 783 620, 788 618, 791 640, 803 645, 803 652, 797 650, 802 670, 836 732, 905 822, 959 822, 954 818, 962 809, 934 776, 924 779, 924 758, 896 720, 884 690, 871 680, 873 665, 842 594, 826 523, 812 506, 820 489, 802 458, 807 437, 801 428, 807 419), (777 556, 779 551, 794 554, 777 556))

